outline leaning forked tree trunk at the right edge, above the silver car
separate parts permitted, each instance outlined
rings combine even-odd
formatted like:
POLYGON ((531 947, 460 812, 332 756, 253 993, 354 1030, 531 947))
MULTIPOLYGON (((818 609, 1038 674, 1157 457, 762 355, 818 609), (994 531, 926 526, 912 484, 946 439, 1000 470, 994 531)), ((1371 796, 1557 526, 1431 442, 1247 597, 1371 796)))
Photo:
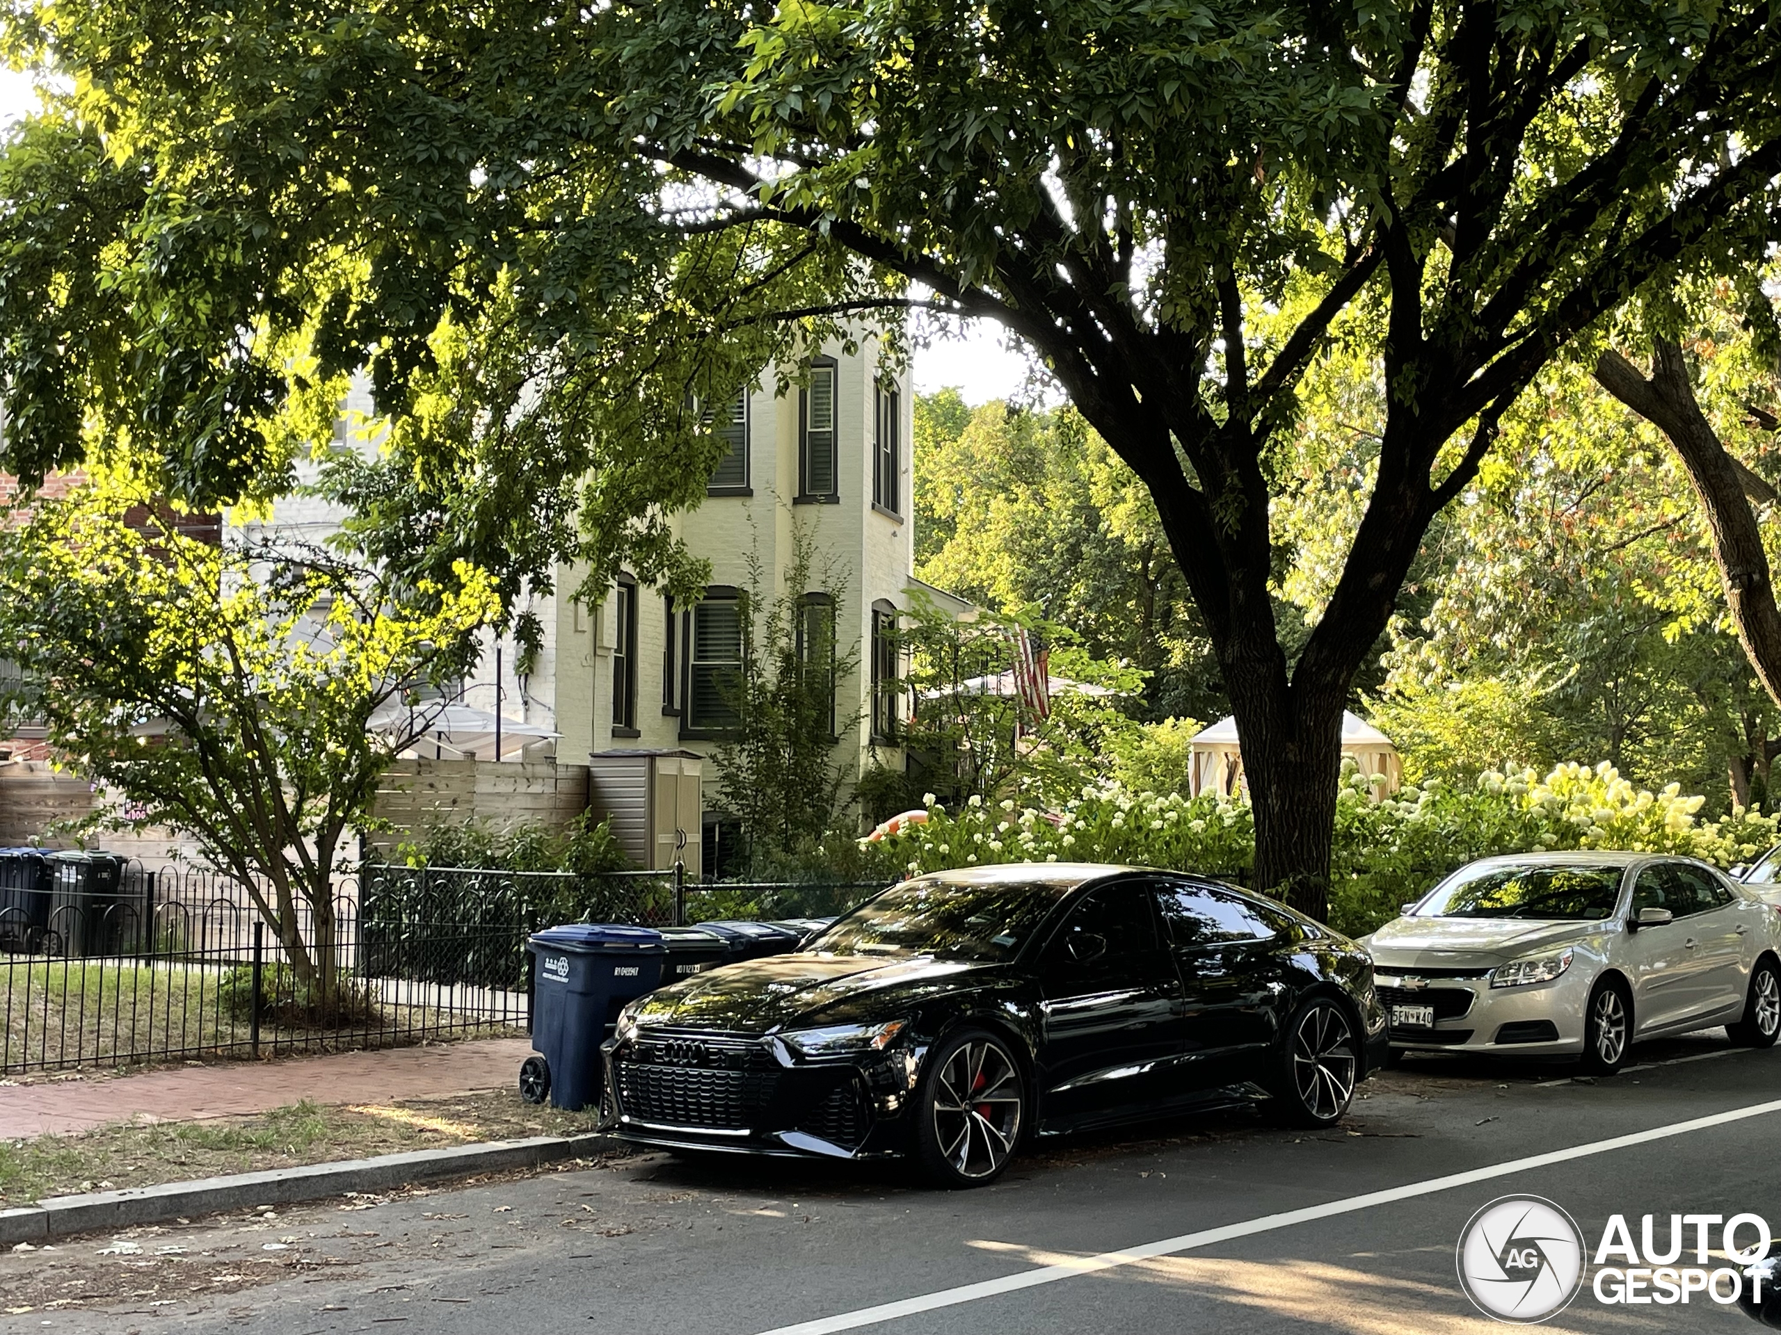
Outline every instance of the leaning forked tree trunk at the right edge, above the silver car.
POLYGON ((1608 349, 1596 361, 1596 381, 1676 447, 1706 511, 1713 557, 1731 621, 1738 627, 1738 641, 1770 700, 1781 703, 1781 609, 1776 607, 1769 554, 1747 498, 1754 491, 1758 498, 1769 500, 1774 498, 1774 490, 1726 452, 1701 413, 1688 363, 1674 342, 1653 340, 1651 379, 1608 349))

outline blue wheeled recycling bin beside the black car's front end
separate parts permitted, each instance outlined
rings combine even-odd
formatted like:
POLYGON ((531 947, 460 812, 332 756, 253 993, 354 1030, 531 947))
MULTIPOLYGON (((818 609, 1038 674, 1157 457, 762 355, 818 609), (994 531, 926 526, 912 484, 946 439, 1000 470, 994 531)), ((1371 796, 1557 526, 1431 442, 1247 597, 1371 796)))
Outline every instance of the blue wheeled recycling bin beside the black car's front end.
POLYGON ((661 986, 668 947, 650 927, 577 922, 525 942, 533 952, 533 1048, 520 1064, 529 1104, 581 1109, 600 1102, 600 1043, 625 1002, 661 986))

